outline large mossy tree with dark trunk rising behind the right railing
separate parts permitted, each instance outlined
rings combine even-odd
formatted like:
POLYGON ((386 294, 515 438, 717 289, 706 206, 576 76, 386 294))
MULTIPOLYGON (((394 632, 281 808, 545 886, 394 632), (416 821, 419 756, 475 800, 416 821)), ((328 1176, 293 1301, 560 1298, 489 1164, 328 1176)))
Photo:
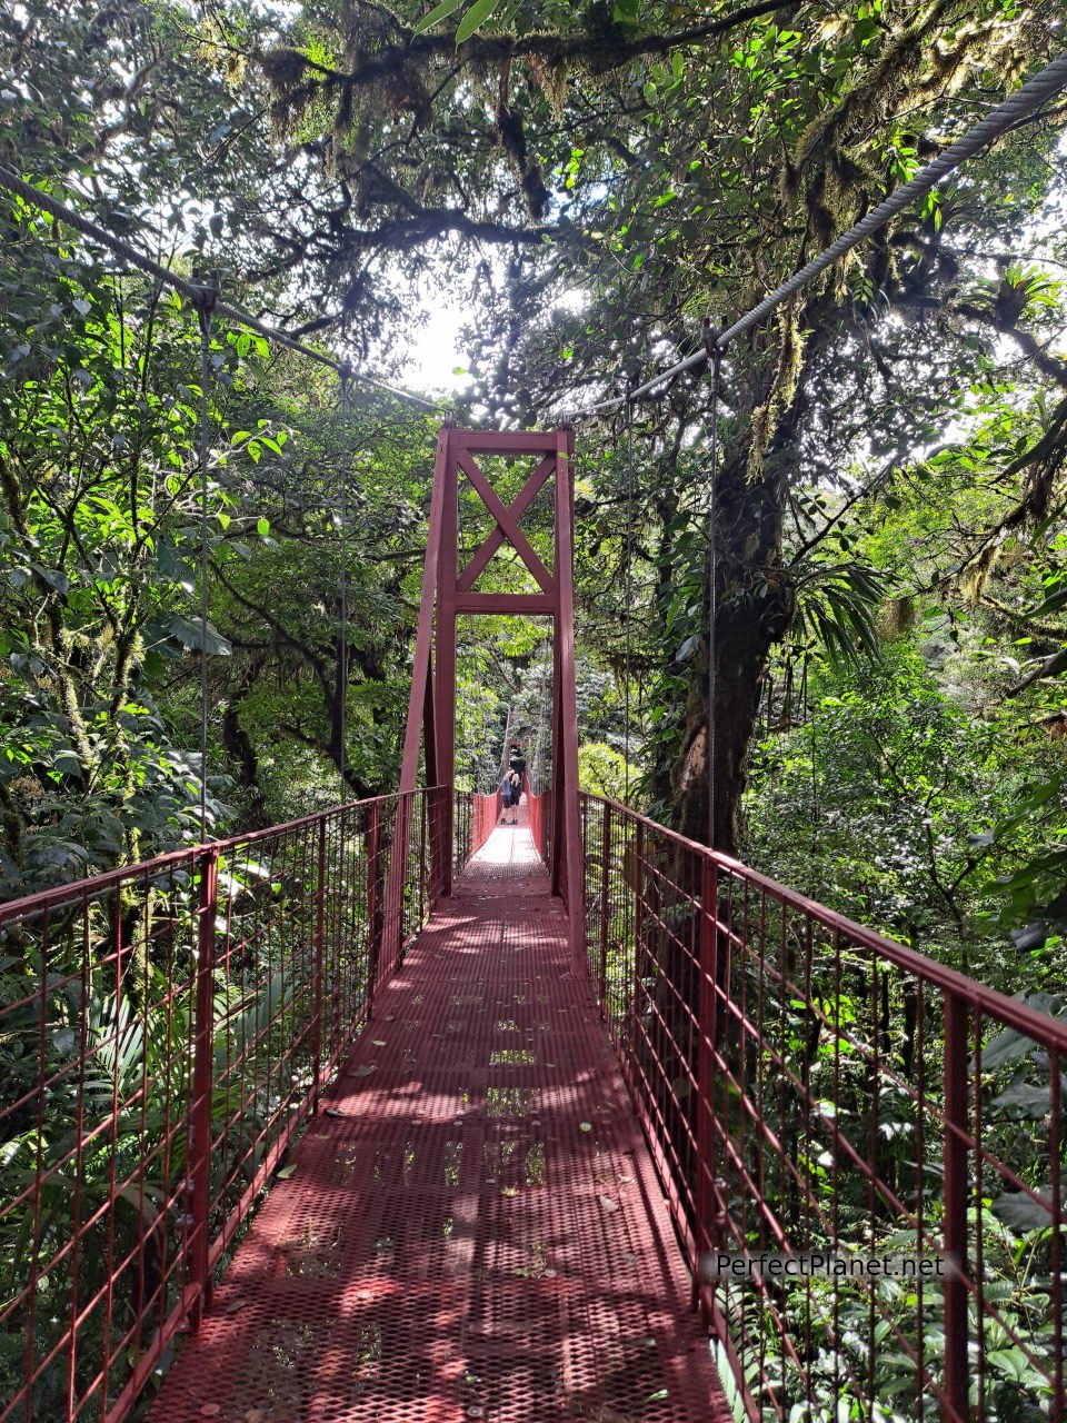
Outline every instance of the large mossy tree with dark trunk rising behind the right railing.
MULTIPOLYGON (((505 245, 509 310, 479 364, 528 391, 508 403, 511 418, 559 408, 561 384, 572 396, 603 388, 635 351, 647 367, 649 354, 684 350, 693 314, 763 296, 966 128, 1004 75, 1021 77, 1050 51, 1044 10, 1014 17, 999 0, 831 16, 808 6, 699 16, 660 4, 580 14, 509 6, 474 34, 435 16, 438 26, 420 28, 411 7, 356 4, 337 26, 309 9, 285 43, 252 55, 252 83, 269 87, 322 191, 270 270, 310 263, 322 299, 336 293, 329 319, 340 320, 383 262, 425 270, 425 245, 445 236, 475 252, 505 245), (563 273, 579 272, 596 293, 580 324, 551 310, 563 273), (561 347, 572 357, 562 373, 561 347)), ((726 848, 737 840, 760 679, 797 609, 782 551, 802 462, 839 481, 861 421, 885 455, 906 448, 943 391, 1004 339, 1041 379, 1060 380, 1009 276, 1047 189, 1039 166, 1049 131, 1033 125, 969 169, 724 364, 711 778, 726 848), (1003 272, 994 289, 987 253, 1003 272), (929 371, 930 398, 905 401, 916 367, 929 371)), ((491 256, 465 260, 484 280, 494 270, 491 256)), ((659 447, 684 424, 694 471, 697 453, 706 462, 706 396, 676 386, 656 407, 659 447)), ((697 603, 703 585, 706 602, 699 568, 676 566, 671 581, 691 583, 697 603)), ((659 773, 693 835, 707 825, 708 672, 701 639, 670 767, 659 773)))

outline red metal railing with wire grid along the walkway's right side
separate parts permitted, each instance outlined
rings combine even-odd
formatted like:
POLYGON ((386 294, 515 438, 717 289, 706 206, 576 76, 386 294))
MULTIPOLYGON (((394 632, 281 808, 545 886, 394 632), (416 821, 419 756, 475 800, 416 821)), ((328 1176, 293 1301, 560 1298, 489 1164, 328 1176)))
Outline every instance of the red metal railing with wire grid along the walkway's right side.
POLYGON ((1061 1420, 1067 1022, 622 805, 582 822, 590 976, 737 1410, 1061 1420))

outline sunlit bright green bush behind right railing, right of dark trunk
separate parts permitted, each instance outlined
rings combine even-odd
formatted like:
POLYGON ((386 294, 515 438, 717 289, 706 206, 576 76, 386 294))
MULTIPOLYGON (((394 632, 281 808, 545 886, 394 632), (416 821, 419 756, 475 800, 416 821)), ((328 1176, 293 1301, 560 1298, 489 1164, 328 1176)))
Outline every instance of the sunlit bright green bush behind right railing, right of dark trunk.
MULTIPOLYGON (((946 696, 913 638, 865 673, 808 670, 808 716, 760 741, 750 852, 851 918, 1014 990, 1031 982, 986 939, 980 842, 1024 773, 1003 727, 946 696)), ((1017 847, 1017 852, 1021 845, 1017 847)))

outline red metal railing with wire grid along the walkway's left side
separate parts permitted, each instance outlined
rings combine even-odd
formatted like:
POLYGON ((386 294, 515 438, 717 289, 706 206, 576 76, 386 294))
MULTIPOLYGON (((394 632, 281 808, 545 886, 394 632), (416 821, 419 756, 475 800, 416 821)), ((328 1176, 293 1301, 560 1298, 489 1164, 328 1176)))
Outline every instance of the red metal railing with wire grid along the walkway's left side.
POLYGON ((0 1420, 117 1423, 195 1325, 428 916, 445 794, 0 906, 0 1420))

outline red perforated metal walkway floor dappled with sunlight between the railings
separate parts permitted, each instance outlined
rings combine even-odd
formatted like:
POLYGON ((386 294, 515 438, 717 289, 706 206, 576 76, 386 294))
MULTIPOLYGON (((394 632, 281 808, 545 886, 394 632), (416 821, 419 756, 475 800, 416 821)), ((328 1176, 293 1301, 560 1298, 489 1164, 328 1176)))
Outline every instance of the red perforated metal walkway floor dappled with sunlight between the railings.
POLYGON ((730 1419, 525 820, 380 993, 340 1116, 309 1127, 151 1423, 730 1419))

